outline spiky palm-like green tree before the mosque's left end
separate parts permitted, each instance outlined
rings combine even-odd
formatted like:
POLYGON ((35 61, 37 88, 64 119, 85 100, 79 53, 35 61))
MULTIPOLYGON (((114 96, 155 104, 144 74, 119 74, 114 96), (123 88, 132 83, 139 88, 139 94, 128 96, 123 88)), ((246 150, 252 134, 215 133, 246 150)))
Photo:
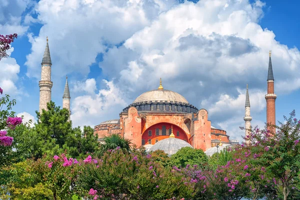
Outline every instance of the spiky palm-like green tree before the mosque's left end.
POLYGON ((119 147, 124 153, 130 150, 131 140, 121 137, 119 134, 110 134, 102 138, 96 156, 102 156, 108 149, 119 147))

